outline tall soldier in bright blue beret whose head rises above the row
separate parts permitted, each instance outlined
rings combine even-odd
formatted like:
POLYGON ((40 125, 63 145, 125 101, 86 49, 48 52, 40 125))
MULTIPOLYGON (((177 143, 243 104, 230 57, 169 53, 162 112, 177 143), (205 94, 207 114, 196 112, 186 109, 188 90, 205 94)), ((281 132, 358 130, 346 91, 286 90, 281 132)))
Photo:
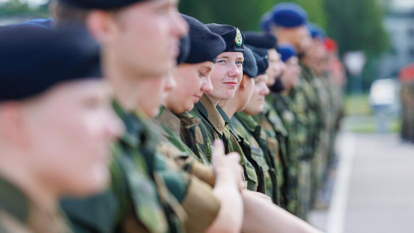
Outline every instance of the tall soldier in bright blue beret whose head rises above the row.
MULTIPOLYGON (((298 51, 298 57, 302 58, 308 50, 311 37, 306 24, 307 12, 295 3, 280 3, 272 8, 271 17, 268 19, 265 29, 278 38, 279 44, 292 44, 298 51)), ((292 98, 290 109, 297 116, 298 137, 301 142, 302 154, 300 155, 300 200, 301 211, 299 215, 305 219, 310 210, 311 180, 310 161, 314 154, 318 136, 318 112, 317 100, 314 89, 310 85, 311 76, 304 73, 300 76, 300 82, 289 93, 292 98)))

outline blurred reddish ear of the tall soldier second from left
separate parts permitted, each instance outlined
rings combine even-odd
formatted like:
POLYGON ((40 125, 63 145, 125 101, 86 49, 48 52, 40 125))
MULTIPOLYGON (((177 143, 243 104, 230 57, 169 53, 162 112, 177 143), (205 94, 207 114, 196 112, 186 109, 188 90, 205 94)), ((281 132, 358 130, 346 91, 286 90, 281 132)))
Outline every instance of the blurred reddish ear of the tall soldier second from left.
POLYGON ((110 13, 103 10, 93 10, 86 20, 89 31, 92 36, 100 43, 106 44, 111 39, 111 29, 113 28, 113 19, 110 13))

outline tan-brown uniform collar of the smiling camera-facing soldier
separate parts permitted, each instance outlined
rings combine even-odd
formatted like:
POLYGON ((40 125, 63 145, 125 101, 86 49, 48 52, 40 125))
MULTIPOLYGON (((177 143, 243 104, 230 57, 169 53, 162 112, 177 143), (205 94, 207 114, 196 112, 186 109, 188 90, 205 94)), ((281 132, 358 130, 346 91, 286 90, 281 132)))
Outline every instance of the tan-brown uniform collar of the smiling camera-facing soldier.
POLYGON ((203 114, 203 116, 207 118, 207 120, 218 133, 223 134, 226 122, 220 113, 218 113, 217 109, 208 99, 206 94, 200 98, 200 102, 197 103, 195 107, 203 114))

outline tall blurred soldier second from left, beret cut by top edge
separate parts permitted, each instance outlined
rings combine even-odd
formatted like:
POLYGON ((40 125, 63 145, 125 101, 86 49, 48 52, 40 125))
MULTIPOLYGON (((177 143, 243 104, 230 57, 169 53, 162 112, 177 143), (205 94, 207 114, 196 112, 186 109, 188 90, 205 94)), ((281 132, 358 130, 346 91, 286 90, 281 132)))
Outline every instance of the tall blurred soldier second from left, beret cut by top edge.
POLYGON ((161 18, 151 10, 157 6, 155 1, 140 0, 63 0, 55 7, 58 24, 84 22, 103 43, 104 72, 114 88, 113 107, 127 130, 114 149, 111 187, 85 200, 62 202, 77 232, 185 231, 185 212, 167 188, 163 172, 168 166, 156 151, 158 135, 146 118, 157 114, 164 89, 171 88, 165 74, 176 55, 165 48, 171 41, 178 42, 188 25, 173 13, 177 4, 161 18), (111 22, 118 29, 106 30, 95 20, 111 22))

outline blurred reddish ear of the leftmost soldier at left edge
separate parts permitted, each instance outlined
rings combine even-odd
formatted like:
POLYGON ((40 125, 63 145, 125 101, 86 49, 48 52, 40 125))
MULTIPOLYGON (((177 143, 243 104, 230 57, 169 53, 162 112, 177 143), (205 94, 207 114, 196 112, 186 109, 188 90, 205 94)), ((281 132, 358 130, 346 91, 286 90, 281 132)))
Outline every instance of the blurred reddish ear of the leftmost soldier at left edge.
POLYGON ((18 102, 0 105, 0 132, 5 143, 24 147, 27 143, 23 106, 18 102))

